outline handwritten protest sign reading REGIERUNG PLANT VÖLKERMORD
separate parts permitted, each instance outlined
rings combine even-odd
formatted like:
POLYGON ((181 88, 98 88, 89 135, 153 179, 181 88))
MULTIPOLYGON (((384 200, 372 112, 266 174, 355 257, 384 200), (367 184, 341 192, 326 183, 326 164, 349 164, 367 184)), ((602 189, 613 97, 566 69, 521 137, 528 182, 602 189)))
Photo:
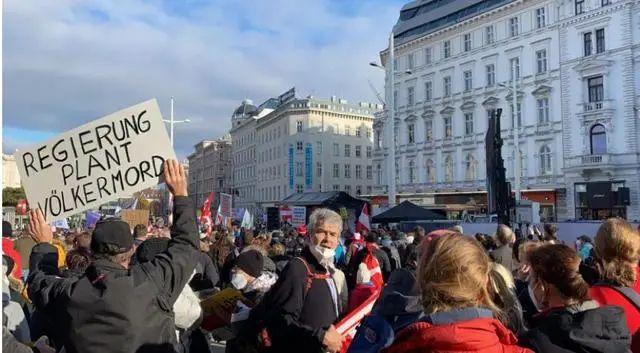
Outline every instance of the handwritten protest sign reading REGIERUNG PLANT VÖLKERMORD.
POLYGON ((176 157, 155 99, 16 153, 27 200, 48 221, 157 185, 169 158, 176 157))

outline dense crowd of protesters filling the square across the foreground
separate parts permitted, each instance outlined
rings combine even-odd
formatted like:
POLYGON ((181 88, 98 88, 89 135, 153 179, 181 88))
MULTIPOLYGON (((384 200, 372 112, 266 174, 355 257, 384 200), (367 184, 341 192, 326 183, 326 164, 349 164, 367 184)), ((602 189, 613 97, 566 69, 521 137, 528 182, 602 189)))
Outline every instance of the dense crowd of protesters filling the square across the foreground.
POLYGON ((109 218, 59 238, 32 210, 14 238, 3 223, 3 351, 209 352, 218 339, 231 353, 640 353, 640 233, 622 219, 575 244, 551 224, 351 233, 325 208, 297 228, 209 229, 182 167, 167 161, 164 178, 170 228, 109 218), (225 291, 220 324, 203 303, 225 291), (372 298, 356 334, 340 331, 372 298))

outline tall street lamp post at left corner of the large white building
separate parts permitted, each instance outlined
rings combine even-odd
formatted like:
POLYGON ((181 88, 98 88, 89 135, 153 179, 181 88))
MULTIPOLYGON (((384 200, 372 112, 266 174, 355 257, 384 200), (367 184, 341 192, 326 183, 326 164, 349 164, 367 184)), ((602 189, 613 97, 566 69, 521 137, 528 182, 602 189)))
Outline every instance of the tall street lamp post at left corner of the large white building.
MULTIPOLYGON (((393 94, 394 86, 395 86, 395 71, 394 71, 394 63, 395 61, 395 48, 394 48, 394 38, 393 31, 389 34, 389 60, 387 60, 387 67, 375 63, 370 62, 369 65, 373 67, 377 67, 385 71, 386 76, 389 78, 389 85, 387 94, 389 95, 386 99, 388 103, 389 109, 389 132, 387 136, 390 138, 387 141, 390 141, 389 154, 387 159, 387 170, 389 170, 390 178, 389 180, 389 207, 393 207, 396 204, 396 142, 395 142, 395 119, 396 119, 396 102, 393 94)), ((405 70, 405 74, 411 74, 411 70, 405 70)))

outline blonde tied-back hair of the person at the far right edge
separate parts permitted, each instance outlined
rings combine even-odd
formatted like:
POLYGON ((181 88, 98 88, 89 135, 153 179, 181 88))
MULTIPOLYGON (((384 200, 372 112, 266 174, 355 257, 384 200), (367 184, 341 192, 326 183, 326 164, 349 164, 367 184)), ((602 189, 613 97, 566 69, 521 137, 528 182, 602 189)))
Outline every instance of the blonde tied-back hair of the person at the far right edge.
POLYGON ((594 239, 600 277, 613 285, 631 287, 640 260, 640 235, 621 218, 602 223, 594 239))

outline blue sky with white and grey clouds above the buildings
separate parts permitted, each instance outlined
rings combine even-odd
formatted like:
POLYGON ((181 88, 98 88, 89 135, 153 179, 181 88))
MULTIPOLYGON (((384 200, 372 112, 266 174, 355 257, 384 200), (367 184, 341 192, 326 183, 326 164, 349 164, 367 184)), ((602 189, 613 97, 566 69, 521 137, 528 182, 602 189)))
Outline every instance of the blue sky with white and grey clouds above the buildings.
POLYGON ((5 0, 3 151, 149 98, 176 99, 176 152, 225 133, 245 98, 376 98, 398 0, 5 0))

